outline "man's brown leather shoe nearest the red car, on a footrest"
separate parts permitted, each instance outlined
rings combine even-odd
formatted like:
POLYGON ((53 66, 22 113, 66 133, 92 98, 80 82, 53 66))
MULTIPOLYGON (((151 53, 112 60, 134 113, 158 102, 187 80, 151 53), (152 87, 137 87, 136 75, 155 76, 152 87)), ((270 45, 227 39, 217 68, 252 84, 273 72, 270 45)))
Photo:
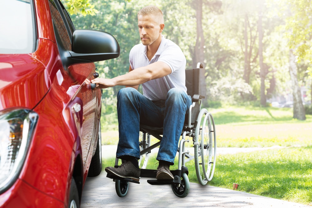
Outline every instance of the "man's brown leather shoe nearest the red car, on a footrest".
POLYGON ((134 167, 130 161, 123 162, 118 168, 105 167, 105 171, 112 176, 130 178, 134 181, 140 180, 141 169, 134 167))

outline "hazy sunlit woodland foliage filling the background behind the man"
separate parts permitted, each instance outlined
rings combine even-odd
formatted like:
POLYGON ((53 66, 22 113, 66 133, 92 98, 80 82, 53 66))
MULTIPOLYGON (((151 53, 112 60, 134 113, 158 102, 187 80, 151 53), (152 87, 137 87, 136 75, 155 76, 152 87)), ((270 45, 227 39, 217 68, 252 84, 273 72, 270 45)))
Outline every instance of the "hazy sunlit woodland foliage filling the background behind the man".
MULTIPOLYGON (((311 0, 63 1, 67 2, 77 29, 106 31, 119 42, 119 58, 96 63, 102 77, 112 78, 128 72, 129 51, 140 42, 137 12, 144 6, 156 5, 164 13, 163 35, 181 47, 187 68, 193 68, 199 60, 203 62, 207 100, 236 104, 259 102, 262 90, 266 100, 285 102, 292 90, 288 58, 292 47, 297 60, 301 61, 296 62, 299 85, 306 86, 308 92, 312 87, 306 73, 311 69, 312 57, 311 0), (86 15, 86 11, 91 10, 92 15, 86 15), (263 35, 261 61, 266 69, 262 88, 259 15, 263 35), (201 18, 202 30, 198 30, 198 18, 201 18)), ((121 87, 104 90, 103 97, 113 99, 121 87)), ((306 99, 311 99, 309 93, 306 99)))

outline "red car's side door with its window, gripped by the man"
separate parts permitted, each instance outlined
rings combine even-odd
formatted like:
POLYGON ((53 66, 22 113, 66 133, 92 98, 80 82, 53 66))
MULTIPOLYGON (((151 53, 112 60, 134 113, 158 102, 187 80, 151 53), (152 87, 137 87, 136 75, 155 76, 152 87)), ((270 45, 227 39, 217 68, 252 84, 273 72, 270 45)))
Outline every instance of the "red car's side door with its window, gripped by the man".
MULTIPOLYGON (((57 41, 59 51, 61 51, 60 47, 62 50, 71 51, 71 40, 75 27, 61 2, 49 0, 49 3, 54 28, 57 30, 55 32, 58 33, 61 40, 61 42, 57 41)), ((99 128, 100 106, 98 99, 100 92, 90 89, 90 85, 87 86, 84 83, 86 79, 94 79, 94 73, 94 63, 71 65, 56 72, 58 82, 61 83, 68 95, 66 105, 71 108, 71 113, 78 118, 76 126, 80 132, 84 169, 88 168, 87 164, 90 163, 99 128)))

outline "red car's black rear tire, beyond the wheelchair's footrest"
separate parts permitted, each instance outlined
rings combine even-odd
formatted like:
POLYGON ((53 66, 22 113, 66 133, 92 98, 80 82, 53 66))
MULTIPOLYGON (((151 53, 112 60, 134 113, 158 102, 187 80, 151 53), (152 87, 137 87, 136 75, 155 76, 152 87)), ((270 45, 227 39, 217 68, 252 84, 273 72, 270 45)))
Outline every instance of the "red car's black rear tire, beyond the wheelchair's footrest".
POLYGON ((101 125, 99 125, 98 142, 95 149, 95 154, 91 159, 88 177, 100 175, 102 171, 102 140, 101 140, 101 125))

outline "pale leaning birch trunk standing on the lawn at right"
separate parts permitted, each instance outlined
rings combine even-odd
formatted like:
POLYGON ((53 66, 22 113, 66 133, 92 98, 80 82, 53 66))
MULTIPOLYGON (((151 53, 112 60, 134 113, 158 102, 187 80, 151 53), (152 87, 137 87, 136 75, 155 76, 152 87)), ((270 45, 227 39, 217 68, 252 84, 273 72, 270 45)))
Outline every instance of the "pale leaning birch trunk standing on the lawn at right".
POLYGON ((290 80, 293 89, 293 101, 294 101, 294 119, 305 120, 305 108, 302 104, 301 99, 301 91, 298 84, 297 78, 297 65, 295 62, 295 55, 293 50, 290 49, 289 51, 289 73, 290 73, 290 80))

